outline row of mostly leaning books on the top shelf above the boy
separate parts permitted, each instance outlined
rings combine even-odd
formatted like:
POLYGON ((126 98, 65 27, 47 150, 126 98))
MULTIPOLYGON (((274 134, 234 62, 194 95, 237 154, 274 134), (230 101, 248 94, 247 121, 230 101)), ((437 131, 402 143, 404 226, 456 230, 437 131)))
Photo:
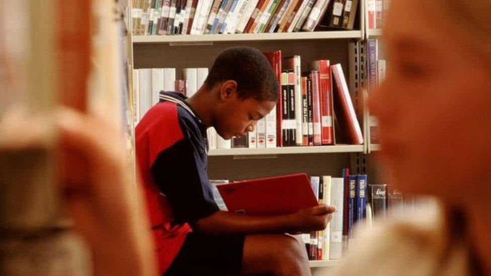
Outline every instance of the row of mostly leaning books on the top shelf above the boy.
POLYGON ((132 0, 133 35, 353 30, 359 0, 132 0))

